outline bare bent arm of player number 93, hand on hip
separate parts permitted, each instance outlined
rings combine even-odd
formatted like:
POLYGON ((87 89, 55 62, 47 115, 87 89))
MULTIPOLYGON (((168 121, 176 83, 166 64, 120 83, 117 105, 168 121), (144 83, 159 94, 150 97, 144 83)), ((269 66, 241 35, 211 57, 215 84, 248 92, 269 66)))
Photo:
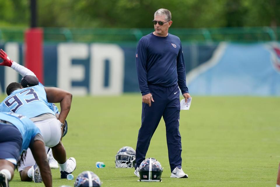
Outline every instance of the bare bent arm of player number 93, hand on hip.
POLYGON ((60 114, 58 120, 64 124, 64 121, 70 111, 72 94, 68 91, 62 90, 55 87, 45 87, 48 102, 50 103, 60 103, 60 114))

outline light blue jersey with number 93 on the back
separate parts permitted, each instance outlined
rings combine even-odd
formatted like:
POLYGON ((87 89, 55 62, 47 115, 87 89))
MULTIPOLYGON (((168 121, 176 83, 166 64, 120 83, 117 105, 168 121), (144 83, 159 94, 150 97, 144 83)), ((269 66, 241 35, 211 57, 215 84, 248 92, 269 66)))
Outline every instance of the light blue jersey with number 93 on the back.
POLYGON ((48 106, 46 91, 43 86, 31 86, 13 91, 0 104, 1 112, 22 114, 28 118, 55 112, 48 106))

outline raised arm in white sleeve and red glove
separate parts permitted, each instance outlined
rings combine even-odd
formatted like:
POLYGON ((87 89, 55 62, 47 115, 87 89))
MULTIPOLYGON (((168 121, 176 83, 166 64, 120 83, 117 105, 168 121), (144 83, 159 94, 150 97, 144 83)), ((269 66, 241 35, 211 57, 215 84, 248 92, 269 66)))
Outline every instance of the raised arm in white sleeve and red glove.
POLYGON ((8 66, 8 67, 13 68, 22 77, 24 77, 26 75, 32 75, 32 76, 36 77, 36 75, 31 70, 29 70, 28 68, 14 62, 13 60, 11 60, 8 57, 7 53, 5 51, 3 51, 2 49, 0 49, 0 58, 2 58, 2 60, 3 60, 3 62, 0 63, 0 65, 8 66))

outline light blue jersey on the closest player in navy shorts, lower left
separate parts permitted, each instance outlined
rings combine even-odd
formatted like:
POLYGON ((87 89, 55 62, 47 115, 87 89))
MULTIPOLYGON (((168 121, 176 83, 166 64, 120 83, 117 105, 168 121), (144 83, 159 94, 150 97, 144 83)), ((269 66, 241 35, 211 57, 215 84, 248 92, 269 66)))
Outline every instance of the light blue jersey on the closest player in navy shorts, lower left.
POLYGON ((23 115, 14 114, 12 112, 0 112, 0 120, 10 122, 20 131, 22 135, 22 148, 20 154, 27 150, 30 142, 37 134, 41 134, 38 127, 23 115))

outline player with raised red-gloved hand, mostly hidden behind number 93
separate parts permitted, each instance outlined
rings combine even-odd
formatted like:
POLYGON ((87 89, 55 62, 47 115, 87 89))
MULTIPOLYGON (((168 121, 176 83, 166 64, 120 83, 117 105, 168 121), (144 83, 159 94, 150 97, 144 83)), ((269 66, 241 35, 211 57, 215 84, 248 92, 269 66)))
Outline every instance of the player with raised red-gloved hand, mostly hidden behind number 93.
MULTIPOLYGON (((18 72, 23 77, 20 82, 20 84, 22 85, 23 88, 41 84, 39 82, 38 78, 36 77, 36 75, 31 70, 29 70, 28 68, 26 68, 16 62, 13 62, 13 60, 11 60, 8 57, 8 55, 6 54, 6 52, 3 51, 2 49, 0 50, 0 58, 3 59, 3 62, 0 63, 0 65, 13 68, 16 72, 18 72)), ((48 103, 48 106, 51 110, 53 110, 55 112, 57 119, 58 119, 60 112, 58 111, 57 106, 54 103, 48 103)), ((67 125, 67 121, 65 120, 65 123, 63 126, 63 136, 62 137, 64 137, 66 135, 67 129, 68 129, 68 125, 67 125)), ((49 162, 50 168, 58 169, 59 168, 58 163, 53 157, 52 149, 49 149, 47 156, 48 156, 48 162, 49 162)))

